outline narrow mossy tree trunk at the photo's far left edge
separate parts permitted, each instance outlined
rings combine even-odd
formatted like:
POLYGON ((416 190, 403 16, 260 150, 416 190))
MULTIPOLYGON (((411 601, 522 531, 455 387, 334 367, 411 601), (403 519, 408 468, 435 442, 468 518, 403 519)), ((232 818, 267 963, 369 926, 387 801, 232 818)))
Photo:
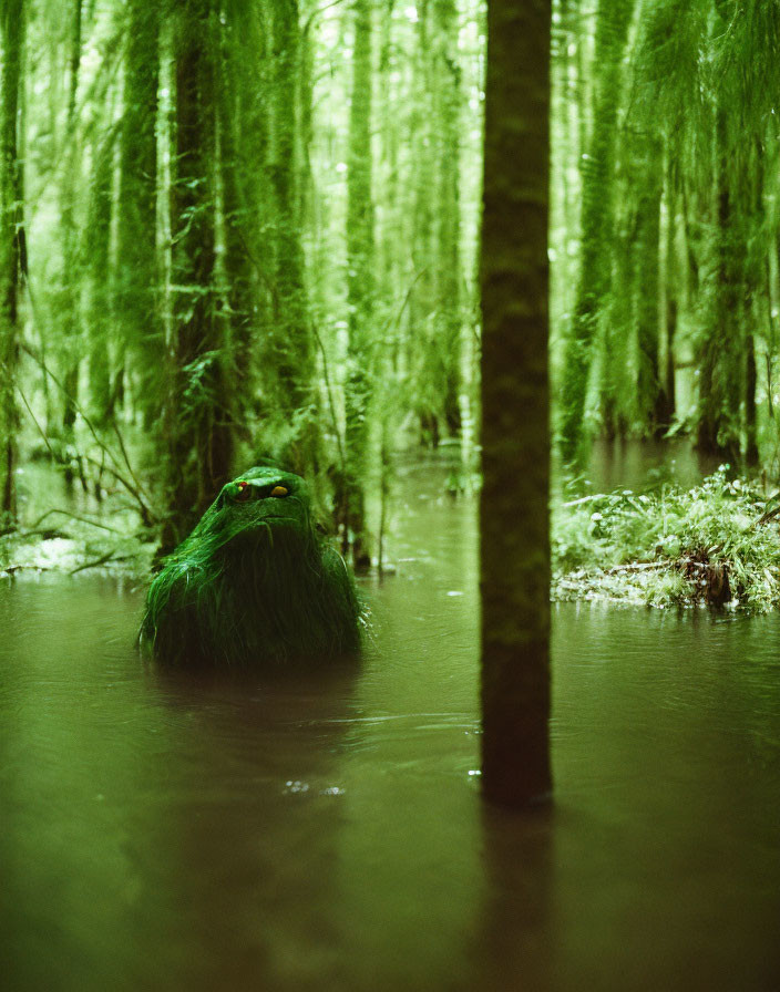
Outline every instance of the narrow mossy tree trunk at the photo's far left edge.
POLYGON ((19 411, 14 389, 19 362, 19 290, 24 255, 19 97, 24 13, 23 0, 7 0, 0 13, 0 519, 3 516, 13 519, 17 514, 19 411))

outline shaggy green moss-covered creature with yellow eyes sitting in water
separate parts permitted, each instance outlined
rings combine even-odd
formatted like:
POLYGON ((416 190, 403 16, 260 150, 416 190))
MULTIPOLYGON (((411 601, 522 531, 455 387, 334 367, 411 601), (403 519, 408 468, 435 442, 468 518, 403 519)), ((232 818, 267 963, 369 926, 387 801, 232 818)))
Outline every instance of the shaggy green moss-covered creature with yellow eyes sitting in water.
POLYGON ((264 668, 357 652, 361 610, 317 533, 305 480, 257 467, 227 483, 164 562, 141 641, 181 666, 264 668))

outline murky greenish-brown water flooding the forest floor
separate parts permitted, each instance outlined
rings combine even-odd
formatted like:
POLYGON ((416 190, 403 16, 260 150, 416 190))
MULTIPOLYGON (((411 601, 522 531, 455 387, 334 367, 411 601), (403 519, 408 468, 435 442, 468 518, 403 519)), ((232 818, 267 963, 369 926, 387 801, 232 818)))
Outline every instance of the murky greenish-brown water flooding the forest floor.
POLYGON ((780 618, 556 608, 555 808, 486 808, 474 507, 400 488, 353 674, 161 678, 140 592, 0 586, 3 988, 780 988, 780 618))

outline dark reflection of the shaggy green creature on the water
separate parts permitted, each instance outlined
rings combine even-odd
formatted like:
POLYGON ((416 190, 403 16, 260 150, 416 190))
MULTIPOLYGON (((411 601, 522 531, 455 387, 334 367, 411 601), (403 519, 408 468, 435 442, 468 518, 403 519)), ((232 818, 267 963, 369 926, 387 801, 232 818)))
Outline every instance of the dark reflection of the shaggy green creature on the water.
POLYGON ((188 724, 151 838, 168 897, 161 953, 182 988, 329 984, 339 941, 322 907, 337 898, 353 679, 158 681, 161 704, 188 724))

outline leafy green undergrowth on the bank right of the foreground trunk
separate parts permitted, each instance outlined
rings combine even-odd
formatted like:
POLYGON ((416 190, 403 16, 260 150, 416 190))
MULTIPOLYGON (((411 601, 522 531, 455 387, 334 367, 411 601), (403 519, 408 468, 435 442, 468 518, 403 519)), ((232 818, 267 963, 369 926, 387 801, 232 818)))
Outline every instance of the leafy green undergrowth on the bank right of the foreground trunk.
POLYGON ((780 505, 721 466, 692 489, 585 496, 553 514, 553 599, 780 606, 780 505))

